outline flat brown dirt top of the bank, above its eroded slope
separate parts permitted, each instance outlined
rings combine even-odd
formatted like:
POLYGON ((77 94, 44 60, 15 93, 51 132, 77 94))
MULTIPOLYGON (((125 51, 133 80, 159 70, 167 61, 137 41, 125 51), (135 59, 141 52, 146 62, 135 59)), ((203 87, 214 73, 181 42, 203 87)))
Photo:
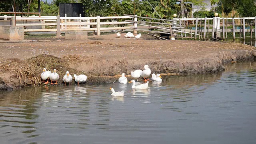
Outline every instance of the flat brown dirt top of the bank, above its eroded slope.
POLYGON ((39 54, 58 57, 82 55, 92 60, 125 59, 194 59, 208 57, 222 50, 252 50, 252 46, 223 42, 194 40, 134 40, 116 38, 116 34, 91 36, 89 40, 64 40, 60 42, 0 43, 1 58, 30 58, 39 54))

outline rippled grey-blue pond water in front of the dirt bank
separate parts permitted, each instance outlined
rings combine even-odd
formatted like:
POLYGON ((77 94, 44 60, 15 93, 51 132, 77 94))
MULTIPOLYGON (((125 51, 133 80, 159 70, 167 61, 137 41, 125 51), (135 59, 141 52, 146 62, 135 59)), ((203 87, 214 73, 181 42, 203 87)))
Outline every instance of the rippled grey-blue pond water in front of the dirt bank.
POLYGON ((0 92, 1 144, 253 144, 256 62, 218 74, 0 92), (110 87, 125 90, 114 98, 110 87))

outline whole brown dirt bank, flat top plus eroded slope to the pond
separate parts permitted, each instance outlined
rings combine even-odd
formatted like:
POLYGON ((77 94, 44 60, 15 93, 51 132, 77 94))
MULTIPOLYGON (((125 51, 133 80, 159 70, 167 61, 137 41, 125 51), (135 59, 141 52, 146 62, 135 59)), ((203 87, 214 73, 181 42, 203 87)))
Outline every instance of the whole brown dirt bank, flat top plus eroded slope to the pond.
MULTIPOLYGON (((151 38, 148 36, 135 40, 124 38, 124 33, 121 35, 121 38, 116 38, 116 34, 89 36, 88 40, 65 40, 62 37, 60 40, 53 38, 50 42, 2 42, 0 65, 5 59, 18 58, 25 62, 29 58, 46 54, 68 62, 68 67, 56 68, 59 72, 62 70, 63 74, 70 68, 74 72, 88 75, 88 83, 108 83, 117 81, 122 72, 129 75, 131 70, 143 69, 144 64, 150 66, 152 73, 197 74, 222 71, 224 62, 248 60, 256 56, 256 49, 244 44, 149 40, 151 38)), ((38 71, 30 75, 40 77, 43 68, 40 66, 34 65, 33 68, 38 68, 38 71)), ((2 72, 3 70, 4 67, 2 72)), ((19 81, 16 79, 15 74, 0 74, 0 90, 1 84, 2 89, 13 89, 29 84, 18 84, 19 81)))

